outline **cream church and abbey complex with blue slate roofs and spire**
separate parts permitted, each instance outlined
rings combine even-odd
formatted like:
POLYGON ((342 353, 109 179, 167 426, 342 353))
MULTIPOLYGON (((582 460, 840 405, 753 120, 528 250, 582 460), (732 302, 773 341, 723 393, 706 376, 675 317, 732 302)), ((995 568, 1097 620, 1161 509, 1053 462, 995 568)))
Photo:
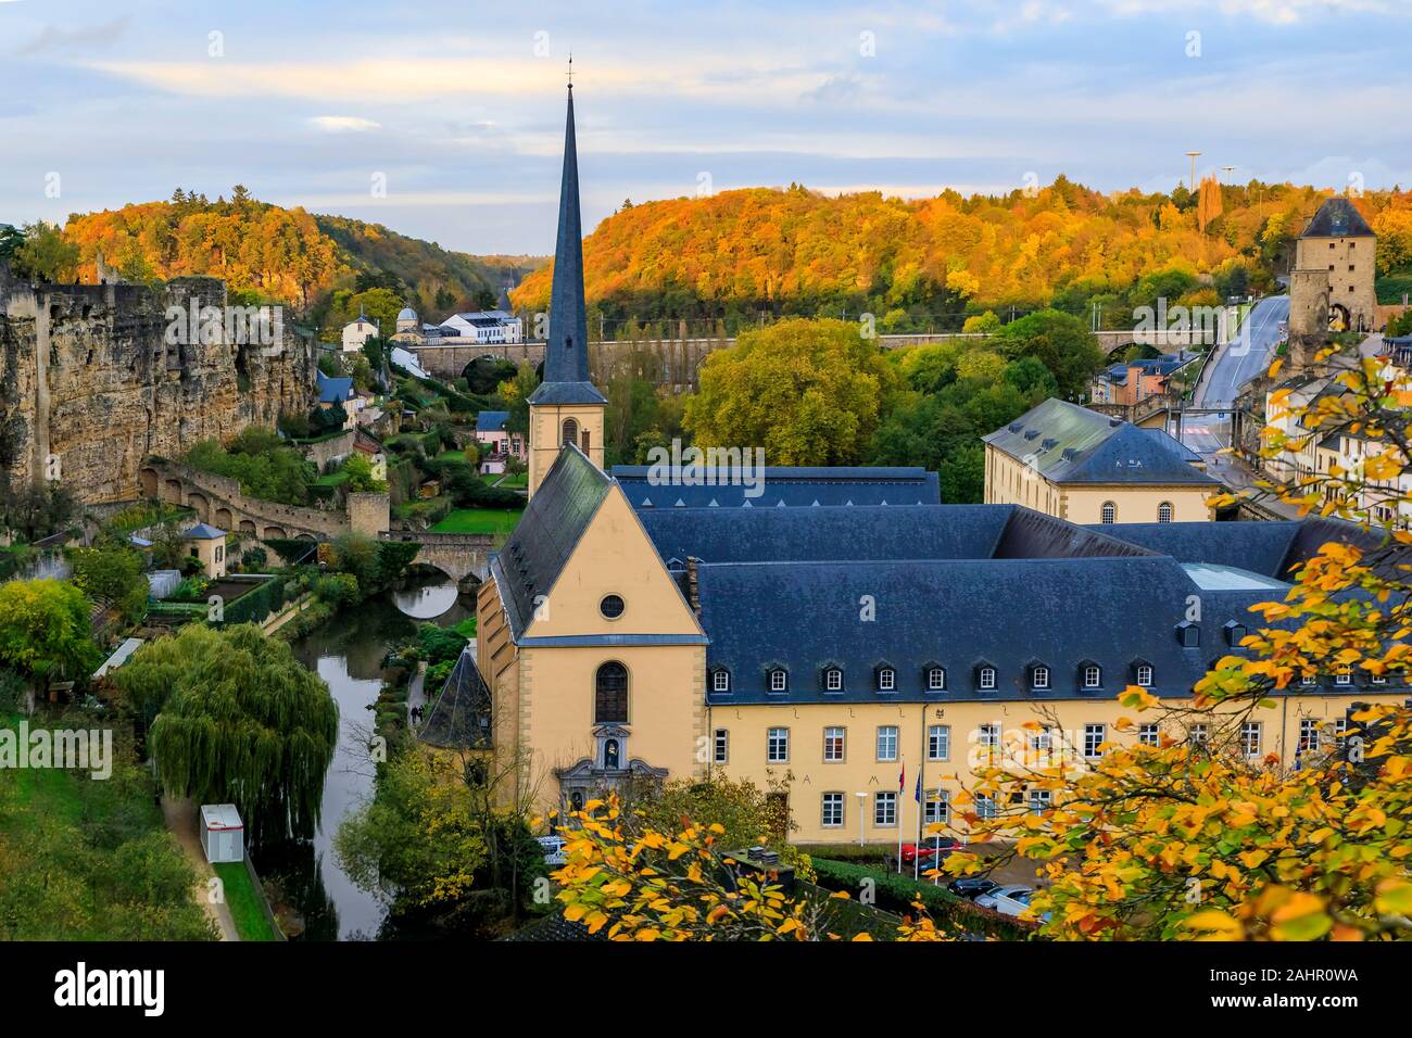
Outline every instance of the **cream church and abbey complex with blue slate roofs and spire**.
MULTIPOLYGON (((1001 747, 1097 760, 1117 740, 1210 736, 1120 732, 1117 696, 1190 698, 1244 651, 1251 606, 1284 597, 1323 542, 1360 537, 1316 518, 1084 525, 943 504, 935 473, 905 467, 767 466, 758 493, 606 472, 572 88, 551 298, 531 497, 476 602, 494 754, 542 809, 723 772, 786 798, 799 842, 963 829, 952 801, 1001 747)), ((1351 703, 1404 695, 1368 674, 1306 675, 1240 722, 1240 746, 1285 764, 1327 753, 1351 703)))

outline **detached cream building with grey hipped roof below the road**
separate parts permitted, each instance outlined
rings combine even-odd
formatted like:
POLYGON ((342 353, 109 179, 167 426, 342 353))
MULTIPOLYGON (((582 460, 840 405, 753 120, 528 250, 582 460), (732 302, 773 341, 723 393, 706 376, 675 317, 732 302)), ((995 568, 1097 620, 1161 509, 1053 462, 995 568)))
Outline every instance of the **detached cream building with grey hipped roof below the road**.
POLYGON ((984 442, 987 504, 1024 504, 1072 523, 1204 521, 1206 499, 1220 487, 1200 456, 1162 429, 1062 400, 984 442))

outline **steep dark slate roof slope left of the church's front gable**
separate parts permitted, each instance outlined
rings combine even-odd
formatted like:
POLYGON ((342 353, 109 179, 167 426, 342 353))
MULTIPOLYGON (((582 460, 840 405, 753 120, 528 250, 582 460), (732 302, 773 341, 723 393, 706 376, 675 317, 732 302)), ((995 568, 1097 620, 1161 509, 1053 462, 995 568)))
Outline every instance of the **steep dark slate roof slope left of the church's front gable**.
POLYGON ((490 561, 515 638, 534 617, 535 596, 551 592, 607 493, 609 477, 578 446, 559 451, 505 547, 490 561))

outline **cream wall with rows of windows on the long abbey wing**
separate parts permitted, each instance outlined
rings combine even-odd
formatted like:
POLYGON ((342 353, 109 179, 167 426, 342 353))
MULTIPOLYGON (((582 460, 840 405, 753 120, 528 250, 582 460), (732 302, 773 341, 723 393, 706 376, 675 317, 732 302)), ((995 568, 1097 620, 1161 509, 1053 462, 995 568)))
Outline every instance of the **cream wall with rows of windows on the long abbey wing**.
MULTIPOLYGON (((1257 710, 1251 717, 1261 722, 1261 753, 1278 754, 1289 764, 1295 760, 1300 720, 1315 719, 1320 723, 1334 722, 1346 715, 1353 702, 1401 702, 1399 693, 1370 695, 1360 689, 1347 695, 1322 692, 1305 696, 1289 696, 1276 700, 1271 709, 1257 710)), ((1024 744, 1032 732, 1024 729, 1029 722, 1056 723, 1065 733, 1067 744, 1083 747, 1086 724, 1104 724, 1104 737, 1113 743, 1137 741, 1137 724, 1156 722, 1156 713, 1135 713, 1124 710, 1115 699, 1093 699, 1082 702, 1048 702, 1045 715, 1035 703, 1018 700, 962 702, 962 703, 822 703, 822 705, 716 705, 709 712, 709 744, 714 751, 714 734, 724 730, 727 736, 729 760, 712 764, 730 778, 748 778, 757 787, 778 788, 788 781, 789 813, 796 828, 791 840, 796 843, 844 843, 858 840, 858 798, 866 794, 863 816, 863 839, 868 843, 895 845, 898 833, 911 842, 918 833, 918 805, 914 799, 918 771, 922 775, 923 791, 945 789, 953 802, 963 787, 974 785, 973 765, 984 757, 977 748, 980 724, 1000 724, 1004 744, 1024 744), (1128 717, 1134 727, 1118 732, 1118 717, 1128 717), (898 760, 878 760, 878 726, 898 727, 898 760), (950 729, 950 751, 946 760, 926 760, 925 730, 933 724, 950 729), (823 730, 829 726, 846 729, 846 753, 842 763, 825 763, 823 730), (767 739, 771 727, 789 730, 789 760, 770 763, 767 760, 767 739), (877 825, 874 801, 878 792, 898 789, 898 772, 904 767, 904 789, 898 797, 899 825, 877 825), (822 825, 822 795, 842 792, 843 825, 826 828, 822 825)), ((1162 730, 1172 737, 1185 737, 1179 722, 1162 723, 1162 730)), ((714 756, 714 753, 713 753, 714 756)), ((953 806, 952 821, 956 829, 964 832, 966 825, 959 812, 973 809, 970 805, 953 806)))

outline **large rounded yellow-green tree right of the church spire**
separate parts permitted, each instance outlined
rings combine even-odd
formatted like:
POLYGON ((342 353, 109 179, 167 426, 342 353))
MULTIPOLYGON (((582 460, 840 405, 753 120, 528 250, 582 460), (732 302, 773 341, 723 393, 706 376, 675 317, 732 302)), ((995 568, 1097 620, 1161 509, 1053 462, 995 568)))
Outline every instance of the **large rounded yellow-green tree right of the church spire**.
POLYGON ((854 465, 894 388, 857 325, 782 321, 706 359, 685 425, 698 446, 762 446, 771 465, 854 465))

